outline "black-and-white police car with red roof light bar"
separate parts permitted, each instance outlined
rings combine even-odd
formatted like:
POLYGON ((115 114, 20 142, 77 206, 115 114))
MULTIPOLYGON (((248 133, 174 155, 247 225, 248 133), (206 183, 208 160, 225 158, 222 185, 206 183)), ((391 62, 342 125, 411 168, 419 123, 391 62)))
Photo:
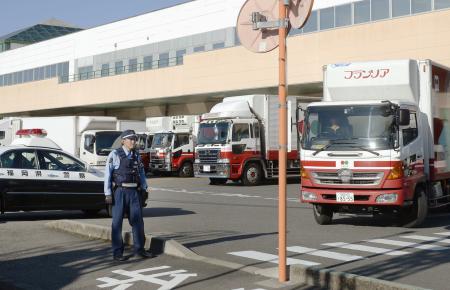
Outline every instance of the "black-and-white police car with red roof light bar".
MULTIPOLYGON (((0 209, 6 211, 107 209, 103 172, 64 152, 42 129, 19 130, 0 147, 0 209)), ((108 211, 108 209, 107 209, 108 211)))

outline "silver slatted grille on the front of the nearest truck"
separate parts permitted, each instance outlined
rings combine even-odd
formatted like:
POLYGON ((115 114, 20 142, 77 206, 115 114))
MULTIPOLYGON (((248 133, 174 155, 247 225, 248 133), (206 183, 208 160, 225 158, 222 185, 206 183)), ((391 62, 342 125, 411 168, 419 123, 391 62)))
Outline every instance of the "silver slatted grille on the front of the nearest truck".
POLYGON ((353 172, 348 182, 343 182, 337 172, 313 172, 312 177, 318 184, 352 184, 378 185, 383 179, 383 172, 353 172))

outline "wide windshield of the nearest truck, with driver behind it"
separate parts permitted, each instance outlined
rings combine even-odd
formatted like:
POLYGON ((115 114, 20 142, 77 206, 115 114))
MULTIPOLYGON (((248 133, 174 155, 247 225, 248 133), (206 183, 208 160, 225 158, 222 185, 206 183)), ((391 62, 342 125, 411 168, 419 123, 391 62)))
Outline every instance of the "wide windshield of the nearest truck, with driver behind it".
POLYGON ((306 112, 302 148, 307 150, 387 150, 397 145, 389 105, 317 106, 306 112))

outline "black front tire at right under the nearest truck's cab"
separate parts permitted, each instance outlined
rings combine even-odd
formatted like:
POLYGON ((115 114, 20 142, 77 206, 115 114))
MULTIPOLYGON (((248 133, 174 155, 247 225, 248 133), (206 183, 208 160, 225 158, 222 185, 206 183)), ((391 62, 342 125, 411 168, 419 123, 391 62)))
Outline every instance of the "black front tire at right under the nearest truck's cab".
POLYGON ((428 198, 422 187, 416 188, 413 204, 400 210, 400 222, 405 228, 414 228, 423 223, 428 214, 428 198))

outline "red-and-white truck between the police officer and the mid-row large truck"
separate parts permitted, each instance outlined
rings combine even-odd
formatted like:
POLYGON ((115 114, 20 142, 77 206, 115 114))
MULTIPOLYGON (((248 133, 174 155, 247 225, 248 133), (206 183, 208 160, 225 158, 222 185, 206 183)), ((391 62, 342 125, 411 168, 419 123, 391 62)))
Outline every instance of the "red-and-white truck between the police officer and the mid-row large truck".
MULTIPOLYGON (((161 117, 164 118, 164 117, 161 117)), ((194 148, 199 116, 172 116, 164 119, 169 130, 156 132, 150 149, 150 170, 153 173, 177 173, 194 176, 194 148)))

